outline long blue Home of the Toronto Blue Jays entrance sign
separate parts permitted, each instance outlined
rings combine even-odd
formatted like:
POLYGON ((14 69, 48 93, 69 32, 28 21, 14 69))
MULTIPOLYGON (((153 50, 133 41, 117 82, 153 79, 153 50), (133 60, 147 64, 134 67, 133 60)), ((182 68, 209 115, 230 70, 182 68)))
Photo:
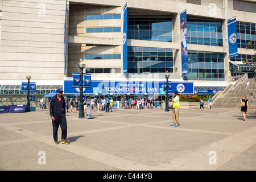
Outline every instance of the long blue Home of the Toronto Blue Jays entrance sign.
MULTIPOLYGON (((91 88, 84 88, 84 94, 164 94, 163 82, 151 81, 92 81, 91 88)), ((64 81, 65 94, 79 94, 80 88, 73 88, 72 80, 64 81)), ((172 90, 181 94, 193 94, 193 82, 171 82, 172 90)))

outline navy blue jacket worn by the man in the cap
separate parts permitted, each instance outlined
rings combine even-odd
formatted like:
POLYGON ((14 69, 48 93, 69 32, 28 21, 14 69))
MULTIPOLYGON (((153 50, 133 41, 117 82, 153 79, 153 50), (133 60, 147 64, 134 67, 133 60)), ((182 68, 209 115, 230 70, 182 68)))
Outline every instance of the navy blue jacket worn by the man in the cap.
POLYGON ((49 110, 50 110, 51 117, 54 116, 54 115, 66 114, 64 97, 61 96, 61 101, 59 101, 59 99, 57 98, 57 95, 53 96, 53 98, 50 102, 49 110), (53 106, 53 101, 54 100, 55 100, 55 103, 54 103, 54 106, 53 106))

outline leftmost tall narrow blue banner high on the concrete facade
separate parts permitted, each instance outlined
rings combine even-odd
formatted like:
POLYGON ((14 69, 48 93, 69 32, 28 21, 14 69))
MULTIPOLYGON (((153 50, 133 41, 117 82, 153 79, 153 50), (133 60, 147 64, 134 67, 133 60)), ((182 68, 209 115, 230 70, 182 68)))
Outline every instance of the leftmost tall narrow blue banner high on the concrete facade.
POLYGON ((123 74, 127 73, 127 3, 123 7, 123 74))

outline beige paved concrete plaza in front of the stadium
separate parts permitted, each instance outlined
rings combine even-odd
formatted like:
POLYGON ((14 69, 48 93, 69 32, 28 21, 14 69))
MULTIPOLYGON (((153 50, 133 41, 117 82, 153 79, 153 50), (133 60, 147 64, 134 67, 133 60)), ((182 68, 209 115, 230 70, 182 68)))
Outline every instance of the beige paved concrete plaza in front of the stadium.
POLYGON ((78 114, 67 113, 69 145, 53 143, 48 109, 1 114, 0 170, 256 169, 256 110, 244 122, 240 109, 181 109, 177 128, 159 108, 78 114))

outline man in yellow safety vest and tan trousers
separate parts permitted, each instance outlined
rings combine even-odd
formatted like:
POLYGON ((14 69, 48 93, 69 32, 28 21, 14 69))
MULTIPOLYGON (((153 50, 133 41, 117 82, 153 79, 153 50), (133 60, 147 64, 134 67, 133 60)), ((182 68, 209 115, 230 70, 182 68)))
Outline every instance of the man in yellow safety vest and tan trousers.
POLYGON ((180 111, 180 98, 177 95, 177 92, 174 92, 172 96, 173 109, 172 109, 172 124, 171 127, 179 126, 179 111, 180 111))

